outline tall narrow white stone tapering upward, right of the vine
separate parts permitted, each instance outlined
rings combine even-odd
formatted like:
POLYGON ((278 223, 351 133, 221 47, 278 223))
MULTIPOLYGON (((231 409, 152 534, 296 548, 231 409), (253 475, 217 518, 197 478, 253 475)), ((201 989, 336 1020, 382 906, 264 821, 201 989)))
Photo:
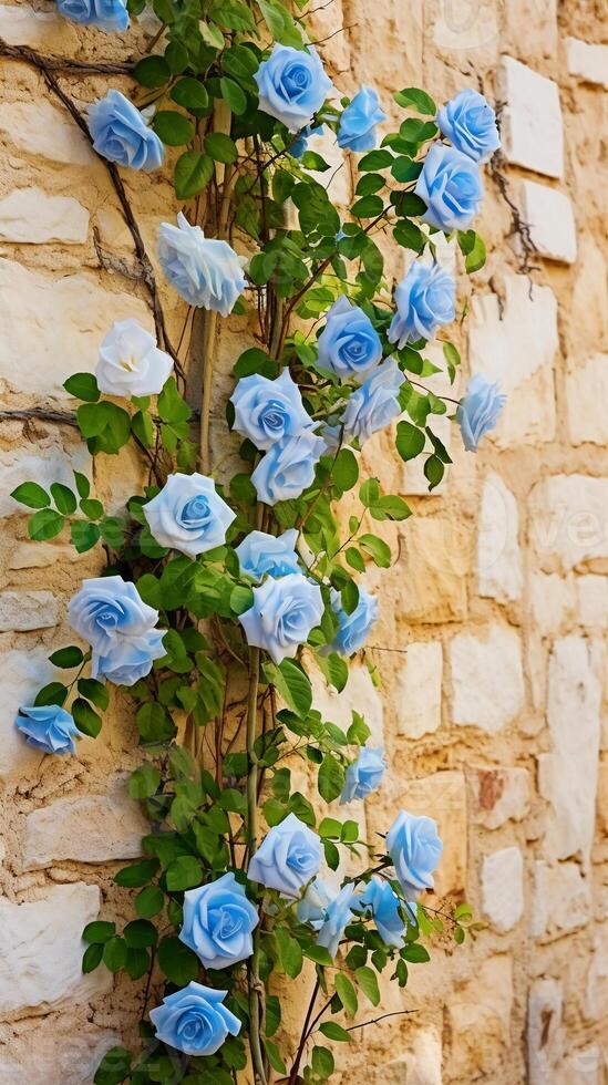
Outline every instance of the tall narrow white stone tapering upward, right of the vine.
POLYGON ((522 595, 519 513, 514 495, 492 473, 484 483, 477 536, 477 581, 481 596, 509 602, 522 595))

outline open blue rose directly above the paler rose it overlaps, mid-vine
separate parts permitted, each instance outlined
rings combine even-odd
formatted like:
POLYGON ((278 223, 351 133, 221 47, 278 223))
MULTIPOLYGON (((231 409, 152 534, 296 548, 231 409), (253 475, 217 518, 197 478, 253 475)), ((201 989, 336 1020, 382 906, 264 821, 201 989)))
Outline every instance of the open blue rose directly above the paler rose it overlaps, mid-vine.
POLYGON ((277 441, 297 437, 313 425, 287 369, 275 381, 257 373, 241 378, 230 403, 235 409, 234 428, 256 448, 270 448, 277 441))

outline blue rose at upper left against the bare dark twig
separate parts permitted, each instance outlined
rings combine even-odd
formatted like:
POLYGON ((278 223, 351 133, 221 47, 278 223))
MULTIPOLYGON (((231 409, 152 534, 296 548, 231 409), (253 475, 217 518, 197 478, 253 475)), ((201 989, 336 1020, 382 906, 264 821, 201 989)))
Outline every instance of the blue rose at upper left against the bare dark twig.
POLYGON ((89 106, 89 131, 95 151, 109 162, 145 173, 163 165, 162 141, 120 91, 89 106))

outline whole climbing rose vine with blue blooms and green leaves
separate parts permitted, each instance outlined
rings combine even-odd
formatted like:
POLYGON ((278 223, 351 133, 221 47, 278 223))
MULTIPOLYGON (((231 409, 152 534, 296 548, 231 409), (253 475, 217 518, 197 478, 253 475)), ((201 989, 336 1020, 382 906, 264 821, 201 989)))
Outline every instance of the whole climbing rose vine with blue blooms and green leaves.
MULTIPOLYGON (((424 351, 442 337, 453 382, 460 356, 445 331, 458 302, 440 251, 446 239, 467 272, 483 266, 472 223, 481 164, 499 140, 476 91, 437 108, 416 87, 394 94, 403 122, 380 138, 377 91, 340 97, 303 17, 275 0, 153 7, 157 51, 134 66, 133 101, 109 87, 85 117, 62 101, 125 213, 117 167, 152 172, 166 146, 184 148, 183 209, 158 223, 155 255, 167 288, 206 310, 204 347, 186 381, 130 210, 156 335, 109 314, 95 375, 65 388, 90 452, 133 442, 147 485, 112 515, 78 472, 73 486, 14 490, 34 509, 32 539, 69 531, 80 554, 105 555, 68 610, 86 647, 53 652, 68 679, 40 690, 16 725, 68 756, 100 734, 112 685, 134 709, 142 758, 130 787, 150 834, 114 881, 135 916, 121 930, 89 924, 83 970, 124 970, 147 993, 138 1051, 112 1048, 97 1085, 231 1085, 248 1064, 256 1085, 317 1085, 360 1002, 379 1003, 378 974, 404 986, 409 965, 429 960, 423 941, 446 927, 462 942, 471 927, 466 905, 432 907, 442 843, 431 817, 395 810, 383 835, 361 838, 357 804, 382 786, 384 751, 354 705, 347 730, 323 717, 308 672, 344 698, 354 657, 378 675, 367 645, 379 603, 360 578, 369 562, 391 564, 374 523, 410 509, 381 478, 360 477, 363 444, 395 423, 398 454, 421 457, 434 489, 451 463, 435 417, 451 410, 470 451, 496 424, 496 385, 478 373, 462 401, 435 395, 424 380, 440 368, 424 351), (343 219, 318 179, 330 168, 312 149, 321 134, 354 156, 343 219), (409 257, 394 291, 380 231, 409 257), (251 339, 234 360, 226 418, 241 467, 226 478, 212 459, 209 401, 230 313, 247 314, 251 339), (328 815, 296 788, 295 766, 316 777, 328 815), (292 1047, 277 975, 302 969, 311 994, 292 1047)), ((143 8, 58 0, 66 19, 107 34, 143 8)))

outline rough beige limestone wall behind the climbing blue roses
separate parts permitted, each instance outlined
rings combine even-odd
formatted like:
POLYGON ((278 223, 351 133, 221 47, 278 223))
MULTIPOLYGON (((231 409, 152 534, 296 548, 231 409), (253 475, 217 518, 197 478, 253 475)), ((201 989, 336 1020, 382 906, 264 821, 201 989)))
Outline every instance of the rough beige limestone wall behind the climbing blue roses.
MULTIPOLYGON (((385 829, 398 805, 436 817, 445 840, 437 892, 467 899, 487 926, 456 952, 439 940, 433 963, 413 965, 405 991, 385 991, 382 1012, 413 1012, 361 1030, 348 1055, 341 1048, 337 1085, 606 1079, 600 16, 591 0, 331 0, 316 17, 319 39, 339 31, 321 50, 344 91, 373 83, 390 108, 390 92, 402 86, 444 100, 471 84, 499 103, 504 158, 486 169, 478 224, 490 258, 473 282, 462 278, 470 316, 461 347, 467 372, 483 370, 509 394, 477 456, 454 435, 454 467, 432 496, 418 468, 388 461, 382 436, 365 445, 367 466, 411 499, 415 517, 387 527, 396 561, 367 578, 382 600, 373 637, 381 689, 361 668, 340 699, 319 683, 318 700, 338 723, 351 706, 364 710, 387 746, 391 771, 367 804, 368 834, 385 829)), ((107 59, 111 49, 124 59, 154 32, 150 18, 131 37, 107 39, 76 32, 50 3, 0 4, 0 37, 66 56, 107 59)), ((81 105, 107 85, 63 82, 81 105)), ((132 267, 133 250, 103 165, 35 71, 12 61, 2 63, 0 141, 2 411, 65 410, 61 383, 93 368, 109 322, 151 322, 146 293, 116 262, 132 267)), ((332 192, 343 205, 349 163, 324 149, 342 166, 332 192)), ((169 184, 142 174, 125 183, 153 250, 159 217, 172 214, 169 184)), ((389 275, 401 275, 394 252, 387 256, 389 275)), ((177 340, 184 313, 175 298, 167 309, 177 340)), ((224 339, 226 372, 233 335, 224 339)), ((219 399, 217 415, 219 432, 219 399)), ((447 434, 446 425, 446 443, 447 434)), ((118 506, 137 465, 100 459, 95 485, 118 506)), ((142 831, 124 794, 137 761, 134 728, 115 699, 102 737, 62 762, 40 757, 12 726, 44 680, 49 652, 72 639, 66 601, 96 559, 29 542, 8 495, 25 478, 69 480, 74 466, 92 471, 71 426, 2 420, 0 1085, 91 1082, 121 1030, 132 1034, 142 1004, 137 986, 112 990, 102 970, 82 976, 78 942, 102 905, 117 918, 127 907, 110 875, 137 854, 142 831)))

